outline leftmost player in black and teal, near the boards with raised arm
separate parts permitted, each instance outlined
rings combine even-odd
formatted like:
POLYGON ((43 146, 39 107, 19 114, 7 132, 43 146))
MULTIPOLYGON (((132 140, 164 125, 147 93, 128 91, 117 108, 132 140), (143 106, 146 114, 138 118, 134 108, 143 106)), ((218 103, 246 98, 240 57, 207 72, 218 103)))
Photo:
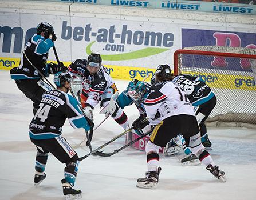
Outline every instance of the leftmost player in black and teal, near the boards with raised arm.
POLYGON ((33 101, 34 113, 38 109, 42 94, 52 89, 48 83, 43 81, 38 71, 45 77, 49 77, 49 74, 56 74, 58 71, 66 70, 63 63, 59 65, 46 64, 48 51, 54 46, 53 42, 56 39, 53 26, 49 23, 41 22, 37 26, 37 33, 27 41, 19 66, 10 70, 11 78, 15 80, 19 90, 33 101))

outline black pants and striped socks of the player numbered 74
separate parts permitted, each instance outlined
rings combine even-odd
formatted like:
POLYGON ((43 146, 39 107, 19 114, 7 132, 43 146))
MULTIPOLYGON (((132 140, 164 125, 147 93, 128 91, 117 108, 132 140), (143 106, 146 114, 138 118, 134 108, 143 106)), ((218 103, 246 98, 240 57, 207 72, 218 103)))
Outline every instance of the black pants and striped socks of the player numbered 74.
POLYGON ((72 149, 66 139, 61 135, 52 139, 33 139, 30 140, 37 147, 36 166, 37 172, 45 170, 48 153, 52 153, 61 163, 65 163, 64 177, 70 185, 74 186, 78 171, 78 155, 72 149))

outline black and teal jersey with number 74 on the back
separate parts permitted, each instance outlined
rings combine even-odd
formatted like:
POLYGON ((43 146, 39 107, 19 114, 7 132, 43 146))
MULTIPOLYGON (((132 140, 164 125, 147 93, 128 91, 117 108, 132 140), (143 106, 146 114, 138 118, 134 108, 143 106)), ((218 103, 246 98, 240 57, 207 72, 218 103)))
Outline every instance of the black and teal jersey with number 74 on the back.
POLYGON ((61 134, 62 126, 68 118, 74 128, 90 130, 82 115, 76 98, 60 90, 46 91, 37 113, 29 125, 29 135, 33 139, 50 139, 61 134))

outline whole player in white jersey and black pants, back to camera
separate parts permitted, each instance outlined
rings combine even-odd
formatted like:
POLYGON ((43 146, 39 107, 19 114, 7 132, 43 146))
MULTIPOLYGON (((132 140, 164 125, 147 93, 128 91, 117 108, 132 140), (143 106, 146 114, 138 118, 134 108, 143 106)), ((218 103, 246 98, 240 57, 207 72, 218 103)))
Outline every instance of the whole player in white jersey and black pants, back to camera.
POLYGON ((149 122, 156 125, 145 147, 148 172, 145 178, 137 179, 137 187, 155 189, 159 180, 159 149, 166 146, 171 138, 182 134, 200 161, 215 178, 226 181, 222 170, 214 163, 211 155, 200 140, 200 130, 193 106, 184 90, 171 82, 171 71, 159 66, 156 69, 156 84, 149 90, 144 100, 149 122))

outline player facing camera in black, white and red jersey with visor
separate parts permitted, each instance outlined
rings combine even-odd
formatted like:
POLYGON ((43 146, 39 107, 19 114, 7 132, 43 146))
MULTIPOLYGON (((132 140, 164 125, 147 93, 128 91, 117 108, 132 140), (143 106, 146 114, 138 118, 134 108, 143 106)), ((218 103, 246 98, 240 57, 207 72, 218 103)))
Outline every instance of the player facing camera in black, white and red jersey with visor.
MULTIPOLYGON (((87 59, 77 59, 68 67, 69 71, 82 80, 81 102, 86 116, 93 119, 93 109, 100 102, 101 107, 108 104, 117 88, 108 69, 101 65, 100 54, 92 53, 87 59)), ((77 93, 80 86, 77 82, 72 85, 72 90, 77 93), (77 89, 78 88, 78 89, 77 89)), ((123 110, 119 109, 113 117, 123 129, 128 126, 128 118, 123 110)))

